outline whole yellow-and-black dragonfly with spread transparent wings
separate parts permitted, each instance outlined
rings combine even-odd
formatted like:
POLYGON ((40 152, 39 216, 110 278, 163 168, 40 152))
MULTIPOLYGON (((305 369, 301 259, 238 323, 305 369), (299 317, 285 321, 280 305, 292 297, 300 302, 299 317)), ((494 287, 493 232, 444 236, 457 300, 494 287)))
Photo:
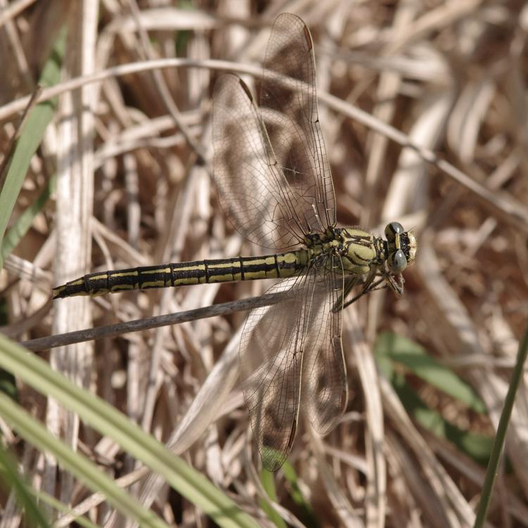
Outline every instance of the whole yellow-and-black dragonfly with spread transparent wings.
POLYGON ((94 272, 54 288, 54 298, 254 279, 279 279, 278 303, 250 311, 239 349, 242 391, 263 466, 287 459, 299 410, 327 434, 346 410, 342 310, 379 287, 403 294, 415 261, 412 231, 384 237, 337 227, 336 199, 318 119, 313 41, 283 13, 272 25, 260 108, 246 83, 218 78, 213 94, 213 174, 219 201, 263 256, 94 272), (359 293, 347 301, 354 287, 359 293))

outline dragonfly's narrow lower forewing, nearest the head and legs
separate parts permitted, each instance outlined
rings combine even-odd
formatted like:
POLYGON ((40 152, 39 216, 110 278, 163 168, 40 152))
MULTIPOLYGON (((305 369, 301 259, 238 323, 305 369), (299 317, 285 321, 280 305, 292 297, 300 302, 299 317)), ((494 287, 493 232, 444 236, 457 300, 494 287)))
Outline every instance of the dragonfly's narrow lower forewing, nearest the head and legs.
POLYGON ((312 427, 320 434, 331 431, 346 409, 348 386, 341 347, 344 280, 341 260, 329 258, 318 274, 318 286, 308 322, 303 363, 303 403, 312 427))

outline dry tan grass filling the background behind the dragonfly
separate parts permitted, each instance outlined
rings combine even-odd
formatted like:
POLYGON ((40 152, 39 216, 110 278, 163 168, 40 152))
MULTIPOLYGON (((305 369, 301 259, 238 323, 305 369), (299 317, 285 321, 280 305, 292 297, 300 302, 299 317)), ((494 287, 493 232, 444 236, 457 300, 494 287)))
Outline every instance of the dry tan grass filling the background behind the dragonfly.
MULTIPOLYGON (((201 66, 183 61, 108 75, 61 94, 12 220, 55 174, 57 190, 0 272, 7 312, 2 330, 23 341, 263 291, 255 282, 50 300, 52 286, 90 270, 256 251, 218 206, 210 178, 211 94, 220 70, 250 71, 244 78, 253 83, 270 25, 284 11, 301 16, 313 34, 339 222, 381 233, 386 221, 397 220, 415 230, 419 252, 405 272, 403 298, 376 292, 347 310, 348 411, 325 439, 301 427, 289 458, 312 517, 306 520, 291 498, 282 472, 277 502, 296 526, 315 520, 321 526, 468 526, 485 464, 464 442, 478 451, 478 439, 494 436, 528 312, 528 8, 522 2, 1 0, 2 153, 24 106, 9 105, 33 91, 63 25, 69 34, 61 82, 127 63, 146 70, 159 58, 201 66), (402 142, 419 148, 402 148, 402 142), (395 360, 393 377, 380 376, 373 348, 382 331, 424 347, 446 367, 441 372, 472 386, 486 412, 434 386, 436 371, 420 373, 395 360), (439 427, 420 421, 419 408, 403 406, 398 380, 439 427), (446 423, 474 436, 453 441, 446 423)), ((245 315, 40 354, 170 442, 269 524, 259 509, 258 454, 237 380, 237 330, 245 315)), ((20 389, 33 415, 106 472, 117 478, 137 469, 56 403, 20 389)), ((509 463, 491 503, 492 526, 528 525, 527 426, 522 386, 508 432, 509 463)), ((4 441, 13 444, 15 436, 2 427, 4 441)), ((28 445, 17 448, 35 487, 72 505, 89 498, 53 460, 28 445)), ((130 493, 139 496, 145 482, 130 493)), ((146 486, 142 501, 168 522, 208 524, 166 487, 146 486)), ((10 508, 4 496, 0 511, 12 514, 10 508)), ((92 520, 108 520, 104 502, 87 508, 92 520)), ((16 525, 18 517, 7 518, 1 527, 16 525)))

